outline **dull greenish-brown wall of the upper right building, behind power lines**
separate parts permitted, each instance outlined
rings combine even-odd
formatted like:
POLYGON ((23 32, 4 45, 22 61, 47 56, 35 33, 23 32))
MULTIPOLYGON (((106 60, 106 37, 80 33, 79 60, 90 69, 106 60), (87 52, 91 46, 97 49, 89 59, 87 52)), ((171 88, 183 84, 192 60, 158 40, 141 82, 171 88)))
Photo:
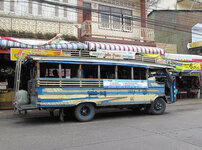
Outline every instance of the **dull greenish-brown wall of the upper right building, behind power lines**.
POLYGON ((202 19, 200 10, 156 10, 148 15, 155 30, 155 41, 177 45, 177 53, 189 54, 192 27, 202 19))

